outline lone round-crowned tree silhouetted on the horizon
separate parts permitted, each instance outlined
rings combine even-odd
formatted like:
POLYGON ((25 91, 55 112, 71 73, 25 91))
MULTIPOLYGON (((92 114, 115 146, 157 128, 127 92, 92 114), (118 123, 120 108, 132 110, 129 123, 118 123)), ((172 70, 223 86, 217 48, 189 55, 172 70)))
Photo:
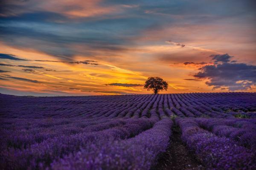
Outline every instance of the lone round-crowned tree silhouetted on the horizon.
POLYGON ((158 94, 159 91, 167 91, 168 82, 163 81, 163 79, 160 77, 148 77, 145 82, 144 88, 148 91, 153 90, 154 94, 158 94))

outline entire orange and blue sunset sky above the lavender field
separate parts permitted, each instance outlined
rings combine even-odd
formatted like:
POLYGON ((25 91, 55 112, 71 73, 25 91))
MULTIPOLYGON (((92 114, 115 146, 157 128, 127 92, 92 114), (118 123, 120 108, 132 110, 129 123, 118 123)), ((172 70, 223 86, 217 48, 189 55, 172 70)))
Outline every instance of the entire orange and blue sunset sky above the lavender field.
POLYGON ((256 92, 255 0, 0 3, 0 93, 256 92))

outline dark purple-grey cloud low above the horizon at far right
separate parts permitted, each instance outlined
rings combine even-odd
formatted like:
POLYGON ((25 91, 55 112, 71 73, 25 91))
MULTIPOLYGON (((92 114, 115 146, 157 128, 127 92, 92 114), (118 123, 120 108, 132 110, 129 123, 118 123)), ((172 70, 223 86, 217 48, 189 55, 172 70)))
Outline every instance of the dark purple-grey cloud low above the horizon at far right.
POLYGON ((213 89, 227 88, 229 91, 249 90, 256 85, 256 65, 230 62, 228 54, 212 55, 215 65, 205 65, 194 75, 197 79, 208 79, 213 89))

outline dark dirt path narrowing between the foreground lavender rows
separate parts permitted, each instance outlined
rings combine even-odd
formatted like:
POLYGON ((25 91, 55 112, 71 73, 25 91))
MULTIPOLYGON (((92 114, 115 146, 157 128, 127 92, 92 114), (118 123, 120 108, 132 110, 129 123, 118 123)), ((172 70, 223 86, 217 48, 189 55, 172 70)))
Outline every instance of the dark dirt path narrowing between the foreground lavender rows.
POLYGON ((170 145, 152 170, 205 170, 204 166, 181 141, 180 128, 174 126, 172 130, 170 145))

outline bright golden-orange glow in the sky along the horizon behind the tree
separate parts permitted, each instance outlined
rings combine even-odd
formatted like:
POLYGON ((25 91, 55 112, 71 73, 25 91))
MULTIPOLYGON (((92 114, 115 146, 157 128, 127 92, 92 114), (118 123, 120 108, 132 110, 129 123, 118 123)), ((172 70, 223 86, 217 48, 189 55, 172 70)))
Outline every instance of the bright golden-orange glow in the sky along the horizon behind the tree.
MULTIPOLYGON (((17 48, 14 49, 6 45, 5 47, 5 49, 8 49, 8 51, 12 51, 12 54, 22 59, 41 60, 43 57, 44 60, 57 60, 54 57, 41 54, 40 52, 37 53, 35 51, 17 48)), ((169 47, 166 45, 145 46, 143 47, 143 51, 144 53, 151 53, 152 51, 165 51, 165 49, 182 50, 182 48, 180 48, 181 47, 177 45, 174 47, 169 47)), ((184 51, 186 50, 184 49, 184 51)), ((0 53, 6 52, 6 50, 0 50, 0 53)), ((139 53, 141 54, 141 51, 139 53)), ((78 57, 80 60, 82 60, 82 58, 83 57, 81 56, 78 57)), ((84 60, 90 60, 90 58, 84 58, 84 60)), ((76 61, 78 60, 76 59, 76 61)), ((17 91, 32 91, 36 93, 49 94, 56 94, 56 91, 59 91, 60 94, 57 95, 65 95, 61 94, 61 92, 74 95, 150 94, 151 92, 143 89, 143 86, 123 87, 105 84, 143 84, 147 77, 160 76, 169 82, 168 91, 163 91, 162 93, 212 92, 212 88, 205 85, 205 81, 207 80, 200 82, 183 80, 191 79, 189 74, 197 72, 198 67, 200 67, 198 65, 183 65, 182 63, 170 64, 168 62, 166 62, 166 64, 161 62, 151 63, 138 59, 137 63, 143 65, 145 70, 148 69, 147 73, 144 71, 131 71, 131 69, 133 69, 133 65, 129 65, 129 69, 125 69, 122 68, 122 64, 120 65, 118 62, 116 62, 116 64, 120 66, 113 65, 112 63, 108 64, 106 61, 101 62, 99 59, 97 60, 97 64, 99 65, 12 60, 4 60, 3 63, 11 65, 36 65, 38 67, 44 67, 44 69, 33 68, 33 72, 23 71, 22 69, 24 68, 19 67, 4 67, 4 70, 11 71, 12 77, 37 80, 40 82, 23 82, 18 79, 1 82, 1 85, 3 85, 2 87, 17 91)), ((134 68, 135 70, 138 69, 136 65, 134 68)), ((6 74, 8 74, 8 72, 6 72, 6 74)))

